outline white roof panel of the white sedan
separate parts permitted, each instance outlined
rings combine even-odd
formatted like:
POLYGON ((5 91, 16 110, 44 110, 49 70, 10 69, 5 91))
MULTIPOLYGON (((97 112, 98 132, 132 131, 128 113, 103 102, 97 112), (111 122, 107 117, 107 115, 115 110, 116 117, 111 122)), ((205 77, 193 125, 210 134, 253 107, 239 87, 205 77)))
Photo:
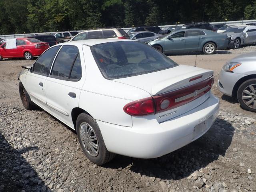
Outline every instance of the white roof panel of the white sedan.
MULTIPOLYGON (((102 44, 102 43, 108 43, 108 42, 120 42, 120 41, 134 41, 130 39, 111 39, 111 38, 106 38, 106 39, 87 39, 87 40, 77 40, 77 41, 69 41, 62 43, 63 45, 75 45, 75 46, 82 46, 83 44, 87 46, 93 46, 96 44, 102 44)), ((137 41, 134 41, 137 42, 137 41)), ((58 44, 58 45, 62 45, 58 44)), ((58 46, 55 45, 55 46, 58 46)))

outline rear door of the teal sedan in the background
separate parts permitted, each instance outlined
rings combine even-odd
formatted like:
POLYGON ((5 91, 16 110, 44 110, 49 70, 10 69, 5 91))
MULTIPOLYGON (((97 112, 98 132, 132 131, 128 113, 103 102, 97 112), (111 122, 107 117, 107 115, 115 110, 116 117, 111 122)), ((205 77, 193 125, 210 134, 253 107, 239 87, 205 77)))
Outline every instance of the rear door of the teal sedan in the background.
POLYGON ((205 38, 205 33, 200 30, 189 30, 185 32, 185 50, 198 51, 200 40, 205 38), (200 35, 201 34, 201 35, 200 35))

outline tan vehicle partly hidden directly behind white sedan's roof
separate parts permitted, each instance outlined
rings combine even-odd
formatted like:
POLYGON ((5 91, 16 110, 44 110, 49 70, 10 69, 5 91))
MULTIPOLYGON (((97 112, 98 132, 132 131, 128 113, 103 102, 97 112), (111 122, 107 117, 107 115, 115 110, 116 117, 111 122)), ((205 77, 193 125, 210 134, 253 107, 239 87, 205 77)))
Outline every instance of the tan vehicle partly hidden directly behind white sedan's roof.
POLYGON ((71 41, 102 38, 129 39, 130 37, 123 29, 120 28, 102 28, 80 32, 74 36, 71 41))

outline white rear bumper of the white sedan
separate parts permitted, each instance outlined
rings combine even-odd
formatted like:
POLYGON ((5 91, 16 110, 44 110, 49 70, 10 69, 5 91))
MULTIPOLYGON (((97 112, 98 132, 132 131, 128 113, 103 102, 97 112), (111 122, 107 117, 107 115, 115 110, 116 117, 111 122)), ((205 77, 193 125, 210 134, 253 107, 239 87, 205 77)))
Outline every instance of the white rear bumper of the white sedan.
POLYGON ((214 123, 219 100, 212 93, 196 108, 165 122, 158 123, 154 115, 133 117, 133 126, 124 127, 107 122, 97 123, 106 148, 113 153, 135 158, 156 158, 177 150, 204 135, 214 123), (202 130, 194 127, 205 122, 202 130))

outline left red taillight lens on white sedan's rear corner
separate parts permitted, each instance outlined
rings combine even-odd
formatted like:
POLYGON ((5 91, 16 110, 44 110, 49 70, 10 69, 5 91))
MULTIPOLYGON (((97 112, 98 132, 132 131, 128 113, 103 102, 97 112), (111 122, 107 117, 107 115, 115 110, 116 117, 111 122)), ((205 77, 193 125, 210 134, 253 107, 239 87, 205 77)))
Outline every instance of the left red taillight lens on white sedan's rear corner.
POLYGON ((137 100, 124 106, 124 112, 132 116, 143 116, 155 112, 152 98, 137 100))

